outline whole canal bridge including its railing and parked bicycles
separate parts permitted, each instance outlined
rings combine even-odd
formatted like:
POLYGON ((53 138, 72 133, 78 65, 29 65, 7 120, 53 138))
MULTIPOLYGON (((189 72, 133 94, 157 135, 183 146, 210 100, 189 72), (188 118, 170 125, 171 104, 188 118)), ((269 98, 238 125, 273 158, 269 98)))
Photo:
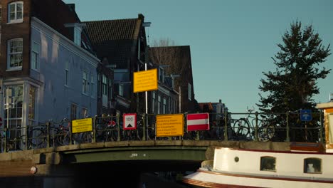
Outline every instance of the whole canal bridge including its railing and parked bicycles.
MULTIPOLYGON (((274 129, 280 128, 279 136, 286 142, 260 142, 258 126, 246 128, 246 132, 234 139, 229 135, 231 125, 224 123, 211 125, 209 131, 157 137, 155 126, 148 120, 147 124, 144 119, 142 122, 137 130, 123 130, 119 118, 94 117, 92 130, 80 133, 73 133, 70 120, 13 130, 5 128, 1 138, 0 184, 5 182, 10 187, 21 182, 28 187, 81 188, 95 187, 96 182, 112 182, 119 187, 138 187, 144 172, 186 172, 211 165, 215 147, 290 150, 289 129, 300 131, 287 123, 287 128, 274 129), (14 131, 16 136, 12 134, 14 131), (254 136, 250 131, 255 132, 254 136), (78 135, 87 139, 78 140, 78 135)), ((233 128, 240 126, 237 122, 233 128)), ((314 130, 322 132, 322 126, 305 127, 305 132, 314 130)))

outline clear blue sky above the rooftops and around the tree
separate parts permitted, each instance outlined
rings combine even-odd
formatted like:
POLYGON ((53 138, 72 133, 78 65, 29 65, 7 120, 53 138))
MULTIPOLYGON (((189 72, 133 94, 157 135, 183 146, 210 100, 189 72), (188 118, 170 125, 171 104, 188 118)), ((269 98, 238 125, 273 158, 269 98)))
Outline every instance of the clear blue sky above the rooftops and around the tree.
MULTIPOLYGON (((333 48, 331 0, 63 0, 74 3, 81 21, 132 19, 143 14, 152 22, 149 44, 170 38, 191 46, 195 98, 226 103, 233 113, 258 103, 263 71, 274 71, 271 57, 292 21, 312 24, 324 46, 333 48)), ((332 51, 331 51, 332 52, 332 51)), ((323 63, 333 69, 333 55, 323 63)), ((316 102, 333 93, 333 71, 318 80, 316 102)), ((255 109, 258 109, 255 107, 255 109)))

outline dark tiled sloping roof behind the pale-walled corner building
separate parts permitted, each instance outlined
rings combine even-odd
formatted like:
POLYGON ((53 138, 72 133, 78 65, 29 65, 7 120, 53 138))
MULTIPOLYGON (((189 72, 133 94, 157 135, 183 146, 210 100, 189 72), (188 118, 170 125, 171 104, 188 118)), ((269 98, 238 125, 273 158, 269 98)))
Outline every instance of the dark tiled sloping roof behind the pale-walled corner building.
POLYGON ((117 68, 127 68, 137 46, 143 16, 137 19, 85 21, 85 31, 93 43, 97 57, 107 58, 117 68))

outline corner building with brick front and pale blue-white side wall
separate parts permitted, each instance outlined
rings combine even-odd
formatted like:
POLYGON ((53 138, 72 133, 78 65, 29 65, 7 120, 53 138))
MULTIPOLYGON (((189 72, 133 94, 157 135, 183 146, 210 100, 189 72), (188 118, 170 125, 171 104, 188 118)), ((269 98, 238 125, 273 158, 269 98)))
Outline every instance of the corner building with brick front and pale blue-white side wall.
POLYGON ((75 6, 60 0, 1 0, 0 7, 4 125, 95 115, 100 60, 75 6))

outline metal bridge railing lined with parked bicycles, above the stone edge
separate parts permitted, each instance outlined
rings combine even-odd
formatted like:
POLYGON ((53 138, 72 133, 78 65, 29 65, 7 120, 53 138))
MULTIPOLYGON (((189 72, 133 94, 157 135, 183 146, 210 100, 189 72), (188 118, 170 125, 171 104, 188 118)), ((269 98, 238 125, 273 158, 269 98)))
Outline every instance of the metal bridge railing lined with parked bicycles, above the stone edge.
POLYGON ((324 142, 321 112, 311 120, 302 120, 299 112, 209 114, 209 130, 188 131, 184 115, 184 135, 157 137, 157 115, 137 115, 137 127, 123 128, 123 117, 93 117, 93 130, 75 133, 71 120, 48 121, 40 125, 11 126, 1 130, 1 152, 29 150, 86 142, 120 142, 129 140, 247 140, 275 142, 324 142))

